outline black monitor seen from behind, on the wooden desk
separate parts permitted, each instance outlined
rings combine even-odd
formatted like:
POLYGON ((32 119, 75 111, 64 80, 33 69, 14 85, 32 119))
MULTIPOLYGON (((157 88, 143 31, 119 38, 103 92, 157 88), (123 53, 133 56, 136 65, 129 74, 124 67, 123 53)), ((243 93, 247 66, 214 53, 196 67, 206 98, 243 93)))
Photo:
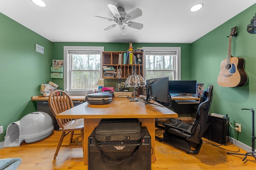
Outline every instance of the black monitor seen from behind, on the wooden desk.
POLYGON ((147 96, 146 96, 146 103, 148 104, 148 99, 153 98, 156 101, 168 103, 169 102, 169 85, 168 85, 169 78, 162 77, 156 79, 148 79, 146 81, 147 87, 147 96))

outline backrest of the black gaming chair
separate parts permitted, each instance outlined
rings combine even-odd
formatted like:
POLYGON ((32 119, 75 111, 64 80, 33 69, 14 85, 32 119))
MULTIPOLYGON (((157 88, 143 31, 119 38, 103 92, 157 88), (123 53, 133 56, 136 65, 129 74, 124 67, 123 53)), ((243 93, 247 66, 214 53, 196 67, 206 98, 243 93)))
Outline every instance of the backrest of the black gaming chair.
POLYGON ((192 134, 195 134, 196 128, 198 126, 201 126, 201 130, 198 135, 198 138, 201 138, 205 130, 207 130, 208 128, 207 120, 208 120, 210 107, 212 104, 213 85, 210 85, 208 89, 206 89, 206 91, 204 92, 204 95, 202 95, 202 97, 200 98, 200 104, 196 112, 196 120, 194 121, 193 127, 191 129, 192 134), (204 101, 205 97, 206 97, 206 100, 204 101))

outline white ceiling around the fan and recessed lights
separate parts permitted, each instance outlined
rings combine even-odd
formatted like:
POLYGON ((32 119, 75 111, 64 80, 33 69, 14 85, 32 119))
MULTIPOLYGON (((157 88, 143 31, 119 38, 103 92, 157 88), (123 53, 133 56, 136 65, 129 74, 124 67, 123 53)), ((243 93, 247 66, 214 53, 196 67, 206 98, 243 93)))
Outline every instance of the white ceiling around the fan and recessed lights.
MULTIPOLYGON (((230 18, 256 3, 256 0, 44 0, 46 7, 31 0, 0 0, 0 12, 40 34, 51 42, 134 42, 192 43, 230 18), (132 21, 144 24, 142 30, 128 28, 123 36, 107 4, 136 8, 142 16, 132 21), (198 12, 190 7, 203 3, 198 12)), ((252 14, 254 16, 254 14, 252 14)), ((249 24, 249 21, 248 21, 249 24)))

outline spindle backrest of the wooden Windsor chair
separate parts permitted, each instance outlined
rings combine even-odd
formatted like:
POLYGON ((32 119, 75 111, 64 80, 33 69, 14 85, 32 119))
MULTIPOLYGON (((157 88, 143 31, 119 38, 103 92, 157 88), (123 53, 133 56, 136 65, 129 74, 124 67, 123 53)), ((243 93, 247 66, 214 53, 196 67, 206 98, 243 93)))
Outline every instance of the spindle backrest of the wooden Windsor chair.
MULTIPOLYGON (((52 93, 50 93, 48 98, 48 104, 55 118, 56 118, 56 115, 58 115, 59 113, 62 113, 74 107, 74 104, 70 96, 65 91, 62 91, 62 90, 55 90, 52 93)), ((58 122, 59 127, 62 129, 64 129, 63 125, 72 121, 72 119, 57 119, 57 118, 56 120, 58 122)))

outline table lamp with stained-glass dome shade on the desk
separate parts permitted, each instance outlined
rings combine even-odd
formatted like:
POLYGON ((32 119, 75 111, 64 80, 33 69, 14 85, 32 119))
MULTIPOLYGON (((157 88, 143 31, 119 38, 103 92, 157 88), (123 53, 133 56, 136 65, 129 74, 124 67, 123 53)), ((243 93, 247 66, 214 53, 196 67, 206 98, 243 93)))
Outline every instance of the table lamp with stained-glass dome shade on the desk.
POLYGON ((130 101, 140 101, 136 98, 136 90, 138 87, 145 87, 145 81, 141 75, 130 75, 125 81, 125 87, 130 87, 134 89, 134 97, 130 101))

